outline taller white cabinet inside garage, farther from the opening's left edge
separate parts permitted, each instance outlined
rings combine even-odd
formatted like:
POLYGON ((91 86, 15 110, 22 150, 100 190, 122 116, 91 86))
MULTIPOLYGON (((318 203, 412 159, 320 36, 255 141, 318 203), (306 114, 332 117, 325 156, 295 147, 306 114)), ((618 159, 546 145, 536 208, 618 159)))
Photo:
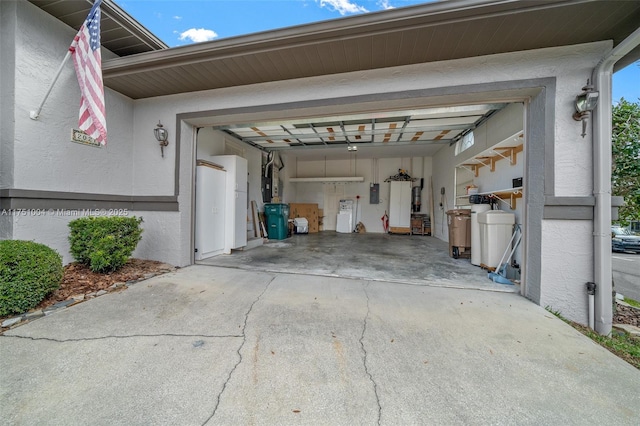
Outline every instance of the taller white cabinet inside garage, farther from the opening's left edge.
POLYGON ((225 247, 224 253, 247 245, 248 164, 237 155, 214 155, 208 159, 224 167, 225 183, 225 247))

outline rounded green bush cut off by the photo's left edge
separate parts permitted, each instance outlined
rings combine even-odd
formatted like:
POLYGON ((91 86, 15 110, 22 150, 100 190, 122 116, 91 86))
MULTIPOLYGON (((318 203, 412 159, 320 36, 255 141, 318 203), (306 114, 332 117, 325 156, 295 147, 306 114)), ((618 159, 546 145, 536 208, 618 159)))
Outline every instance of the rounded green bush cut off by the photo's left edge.
POLYGON ((0 241, 0 315, 20 314, 57 289, 62 257, 33 241, 0 241))

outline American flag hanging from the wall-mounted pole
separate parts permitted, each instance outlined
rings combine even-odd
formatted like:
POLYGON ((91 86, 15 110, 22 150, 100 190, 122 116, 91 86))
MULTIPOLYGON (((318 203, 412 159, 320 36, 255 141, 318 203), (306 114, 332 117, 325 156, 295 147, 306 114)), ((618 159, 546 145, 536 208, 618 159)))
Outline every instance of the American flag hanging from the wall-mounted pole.
POLYGON ((107 144, 107 121, 102 85, 102 55, 100 54, 100 3, 93 3, 89 16, 80 27, 69 50, 80 85, 80 118, 78 127, 86 134, 107 144))

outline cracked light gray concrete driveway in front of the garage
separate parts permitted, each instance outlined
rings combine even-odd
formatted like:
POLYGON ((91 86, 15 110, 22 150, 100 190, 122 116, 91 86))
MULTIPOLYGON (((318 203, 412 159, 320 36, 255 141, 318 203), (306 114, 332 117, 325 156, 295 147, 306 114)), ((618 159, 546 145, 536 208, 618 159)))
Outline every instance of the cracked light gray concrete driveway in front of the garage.
POLYGON ((640 371, 513 293, 192 266, 0 336, 10 425, 640 423, 640 371))

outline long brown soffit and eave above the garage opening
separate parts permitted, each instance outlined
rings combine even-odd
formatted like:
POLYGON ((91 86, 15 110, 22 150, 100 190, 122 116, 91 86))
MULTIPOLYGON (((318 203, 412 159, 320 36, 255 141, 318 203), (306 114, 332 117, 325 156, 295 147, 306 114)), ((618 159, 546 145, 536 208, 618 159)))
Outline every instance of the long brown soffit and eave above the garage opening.
MULTIPOLYGON (((640 2, 452 0, 103 62, 104 84, 133 99, 613 40, 640 2)), ((105 46, 106 47, 106 46, 105 46)), ((636 48, 620 66, 640 57, 636 48)))

